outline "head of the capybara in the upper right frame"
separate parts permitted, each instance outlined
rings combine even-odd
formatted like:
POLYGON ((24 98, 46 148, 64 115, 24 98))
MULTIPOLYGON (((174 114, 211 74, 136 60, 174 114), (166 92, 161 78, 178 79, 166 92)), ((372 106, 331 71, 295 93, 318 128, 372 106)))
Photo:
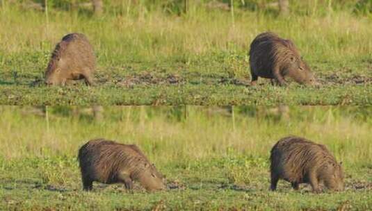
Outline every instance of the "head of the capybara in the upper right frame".
POLYGON ((296 58, 296 56, 289 58, 289 62, 284 67, 284 72, 287 72, 288 76, 298 83, 317 85, 312 70, 302 58, 296 58))

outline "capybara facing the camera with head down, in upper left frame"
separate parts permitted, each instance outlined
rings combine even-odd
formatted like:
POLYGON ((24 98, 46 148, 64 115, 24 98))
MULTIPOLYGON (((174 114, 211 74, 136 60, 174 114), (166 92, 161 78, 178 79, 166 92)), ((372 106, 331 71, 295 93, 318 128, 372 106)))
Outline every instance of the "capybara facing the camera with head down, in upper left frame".
POLYGON ((88 85, 92 85, 95 63, 95 53, 86 35, 65 35, 51 53, 45 72, 45 83, 65 85, 67 81, 85 79, 88 85))

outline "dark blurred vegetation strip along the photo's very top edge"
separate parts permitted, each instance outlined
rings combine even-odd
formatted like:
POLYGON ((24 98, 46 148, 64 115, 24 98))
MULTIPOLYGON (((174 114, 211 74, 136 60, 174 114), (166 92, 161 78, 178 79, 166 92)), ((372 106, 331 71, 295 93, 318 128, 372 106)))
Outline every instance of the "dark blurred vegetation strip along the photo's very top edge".
MULTIPOLYGON (((181 15, 195 10, 195 7, 231 10, 238 8, 248 11, 273 12, 286 15, 289 11, 309 14, 325 12, 325 10, 352 10, 357 14, 371 13, 369 0, 8 0, 24 8, 45 10, 78 10, 79 12, 95 13, 115 12, 123 15, 131 9, 141 8, 143 12, 163 10, 172 15, 181 15)), ((4 2, 3 2, 4 3, 4 2)))

